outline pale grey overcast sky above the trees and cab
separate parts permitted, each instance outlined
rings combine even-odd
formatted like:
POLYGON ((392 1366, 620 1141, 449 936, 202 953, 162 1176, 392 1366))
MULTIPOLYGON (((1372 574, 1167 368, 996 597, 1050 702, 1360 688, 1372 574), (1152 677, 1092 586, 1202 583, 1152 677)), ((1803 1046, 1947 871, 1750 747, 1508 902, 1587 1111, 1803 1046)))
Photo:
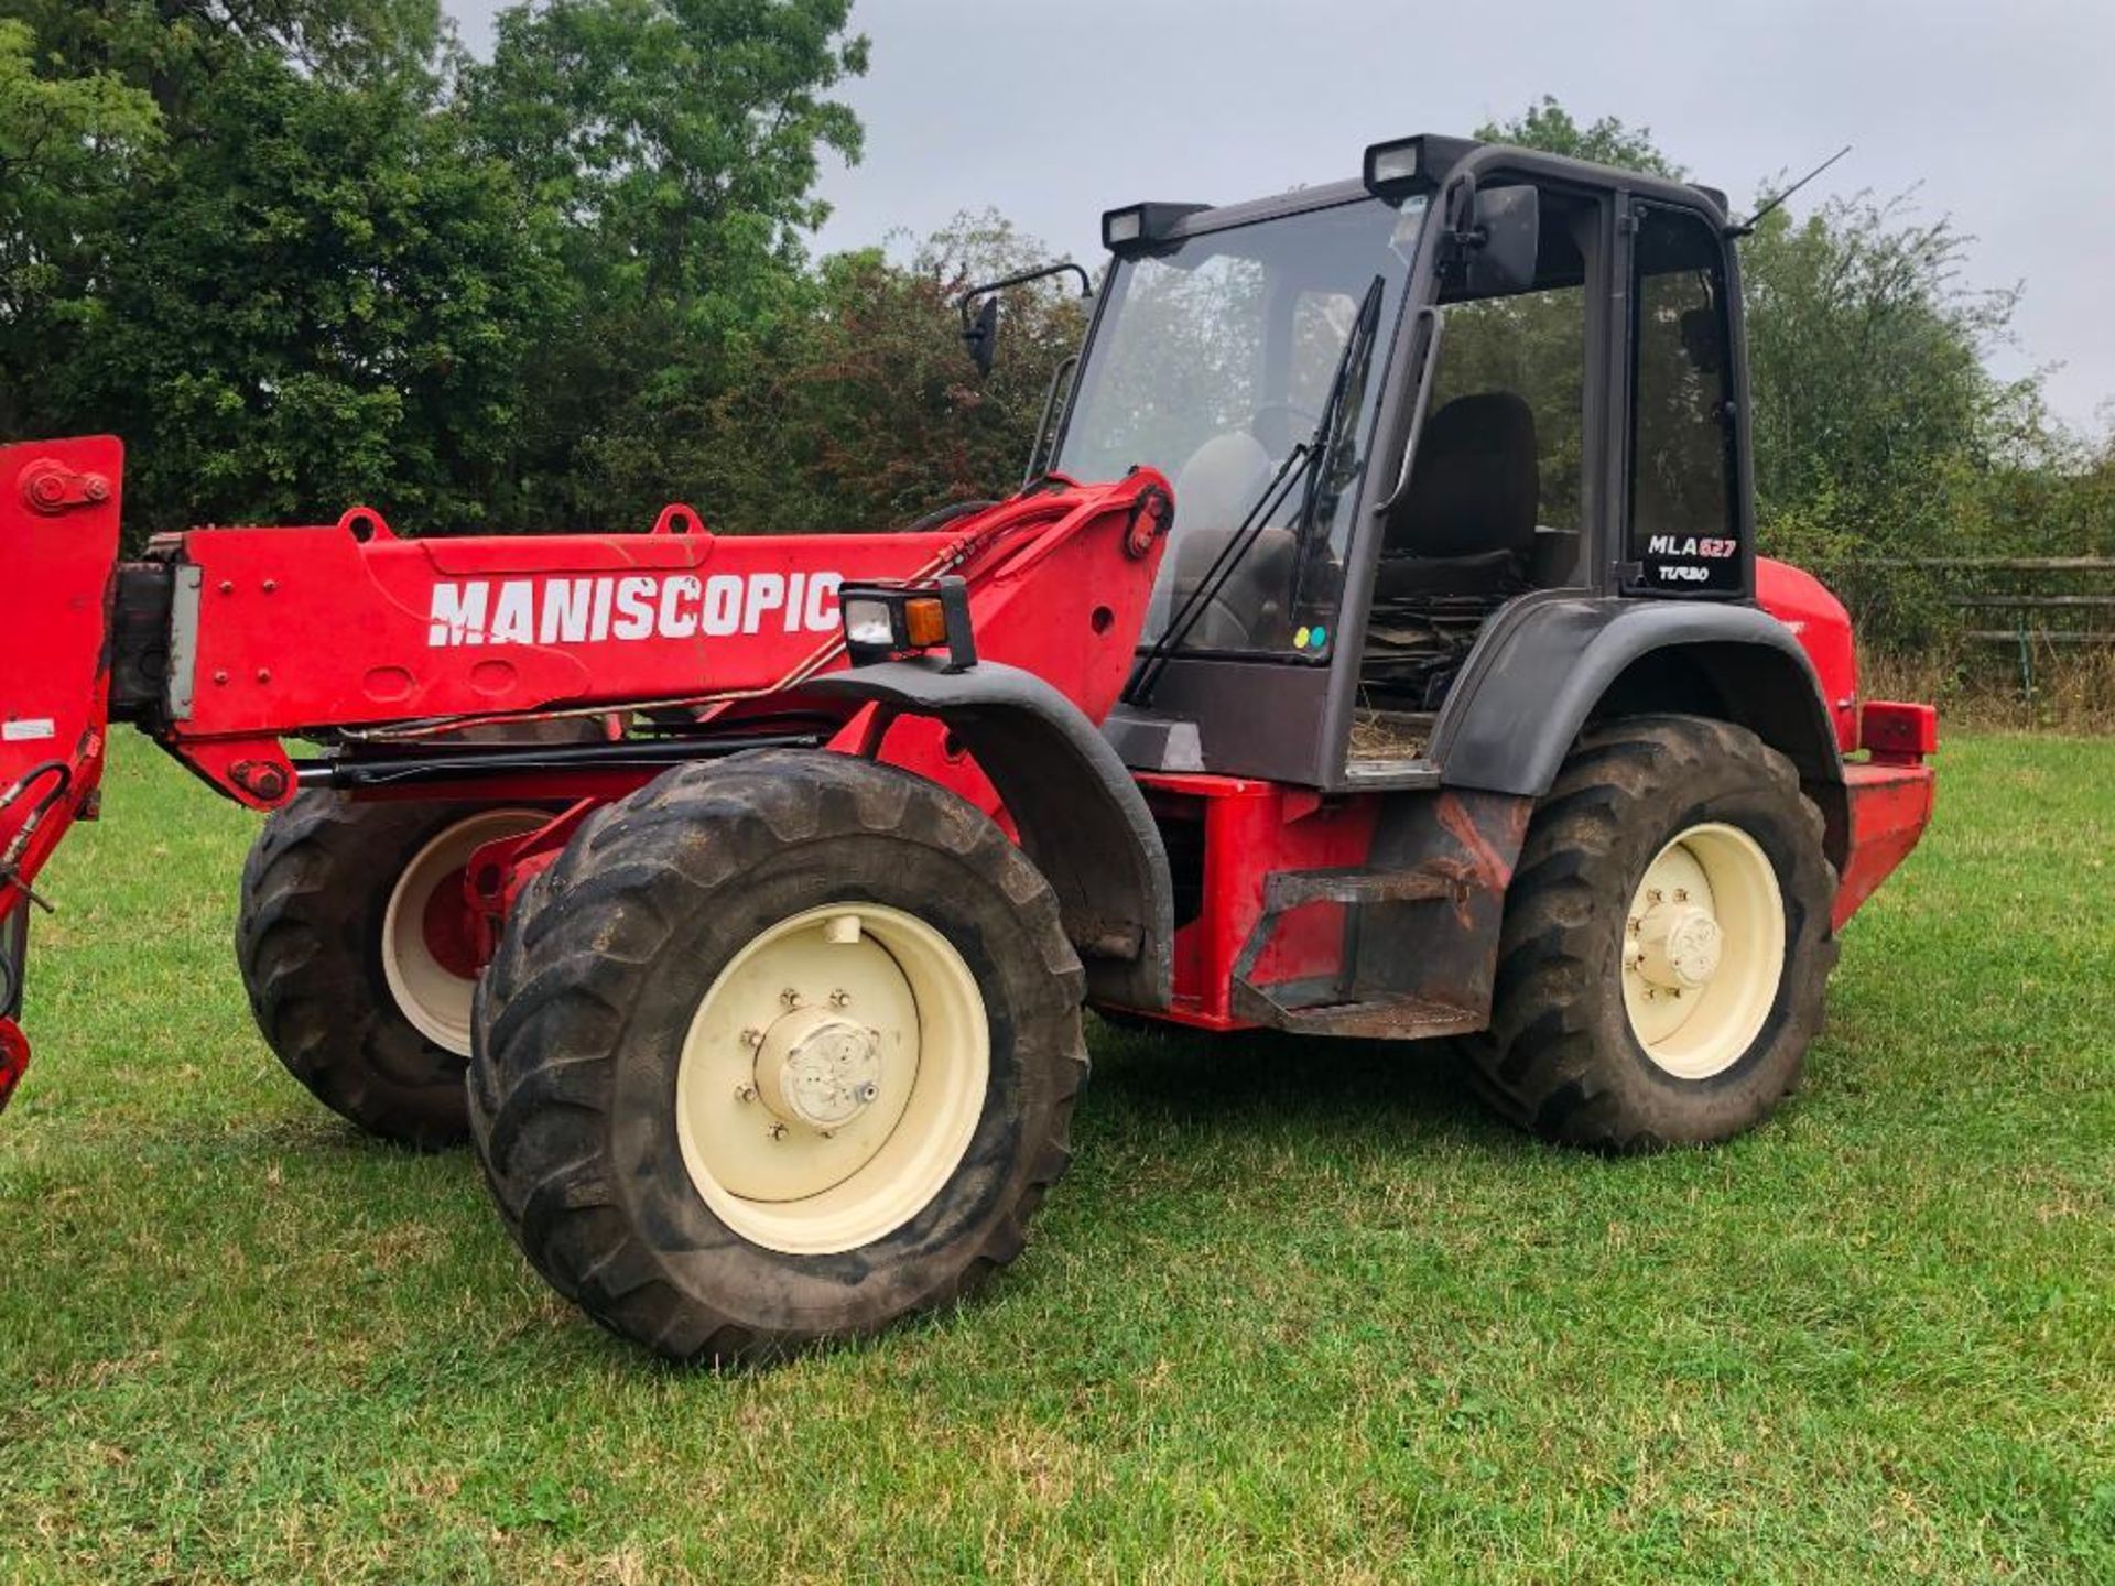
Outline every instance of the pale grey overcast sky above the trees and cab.
MULTIPOLYGON (((444 0, 489 49, 495 0, 444 0)), ((1083 258, 1102 209, 1229 203, 1358 173, 1368 142, 1466 133, 1555 93, 1616 114, 1736 207, 1853 152, 1815 195, 1901 192, 1975 235, 1969 281, 2026 283, 2007 372, 2115 419, 2115 0, 859 0, 819 247, 998 207, 1083 258)))

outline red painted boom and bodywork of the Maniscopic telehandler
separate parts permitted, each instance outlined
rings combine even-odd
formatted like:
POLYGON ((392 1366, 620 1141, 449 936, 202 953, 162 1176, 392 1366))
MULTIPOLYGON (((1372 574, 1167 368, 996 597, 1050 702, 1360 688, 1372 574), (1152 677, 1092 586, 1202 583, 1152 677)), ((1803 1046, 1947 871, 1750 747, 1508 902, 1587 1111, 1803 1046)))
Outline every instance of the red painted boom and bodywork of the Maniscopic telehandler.
MULTIPOLYGON (((802 691, 846 664, 838 586, 962 577, 979 653, 1032 672, 1102 721, 1132 668, 1170 512, 1167 484, 1151 472, 1100 486, 1058 480, 931 533, 890 535, 717 537, 675 505, 645 535, 398 539, 355 510, 326 527, 171 535, 146 563, 121 569, 121 463, 110 438, 0 448, 0 554, 17 592, 17 615, 0 628, 0 918, 36 897, 38 871, 72 820, 95 816, 114 704, 252 808, 292 797, 290 736, 362 746, 372 734, 402 753, 476 725, 565 715, 615 727, 654 711, 757 734, 793 717, 829 749, 880 755, 1005 820, 992 785, 939 723, 802 691), (112 658, 125 649, 114 643, 129 613, 125 579, 146 569, 173 569, 161 582, 167 609, 150 613, 171 643, 165 677, 142 683, 114 677, 112 658)), ((1840 924, 1929 818, 1931 715, 1868 706, 1861 721, 1849 624, 1819 584, 1766 567, 1762 601, 1806 645, 1838 704, 1840 746, 1870 751, 1846 761, 1829 808, 1840 924)), ((360 795, 573 804, 541 833, 480 852, 463 918, 431 926, 436 941, 489 949, 520 882, 577 818, 658 770, 582 761, 360 795)), ((1195 856, 1197 907, 1176 922, 1161 1017, 1256 1023, 1244 988, 1269 998, 1273 985, 1337 971, 1343 905, 1271 907, 1271 878, 1364 865, 1383 799, 1398 795, 1206 774, 1140 782, 1195 856)), ((1470 907, 1472 890, 1495 905, 1525 801, 1430 797, 1434 865, 1457 875, 1455 907, 1470 907)), ((1461 1028, 1474 1017, 1464 1009, 1461 1028)), ((0 1104, 25 1062, 19 1028, 0 1017, 0 1104)))

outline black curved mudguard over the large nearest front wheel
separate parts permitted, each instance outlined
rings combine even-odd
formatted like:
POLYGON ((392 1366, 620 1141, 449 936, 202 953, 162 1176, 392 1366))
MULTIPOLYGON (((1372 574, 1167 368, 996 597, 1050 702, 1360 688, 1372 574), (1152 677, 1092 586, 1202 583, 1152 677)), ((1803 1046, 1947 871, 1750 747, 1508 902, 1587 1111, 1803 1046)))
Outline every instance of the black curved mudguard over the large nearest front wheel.
MULTIPOLYGON (((806 691, 941 721, 990 778, 1022 850, 1058 890, 1089 996, 1167 1007, 1167 852, 1138 782, 1072 700, 998 662, 962 672, 928 660, 884 662, 812 679, 806 691)), ((846 746, 852 740, 848 734, 846 746)))

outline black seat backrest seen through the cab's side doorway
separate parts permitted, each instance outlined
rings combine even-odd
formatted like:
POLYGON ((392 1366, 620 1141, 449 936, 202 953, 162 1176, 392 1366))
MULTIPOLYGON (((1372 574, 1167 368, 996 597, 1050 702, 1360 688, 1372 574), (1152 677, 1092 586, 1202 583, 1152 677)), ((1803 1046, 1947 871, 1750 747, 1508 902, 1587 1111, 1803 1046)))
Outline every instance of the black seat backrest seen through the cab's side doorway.
POLYGON ((1525 588, 1540 495, 1533 408, 1514 391, 1455 398, 1426 423, 1387 512, 1375 596, 1495 601, 1525 588))

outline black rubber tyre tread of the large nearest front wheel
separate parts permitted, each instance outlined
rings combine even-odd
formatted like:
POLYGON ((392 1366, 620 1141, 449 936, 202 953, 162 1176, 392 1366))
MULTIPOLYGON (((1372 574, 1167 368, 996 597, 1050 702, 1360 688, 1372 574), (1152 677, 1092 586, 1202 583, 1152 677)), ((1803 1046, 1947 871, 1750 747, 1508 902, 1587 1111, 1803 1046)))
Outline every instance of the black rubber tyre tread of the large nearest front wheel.
POLYGON ((757 856, 848 831, 905 833, 994 878, 1028 922, 1070 1043, 1051 1127, 1013 1203, 960 1269, 901 1313, 973 1292, 1026 1246, 1026 1224, 1070 1163, 1087 1076, 1085 973, 1049 882, 1005 833, 931 782, 846 755, 764 751, 685 766, 599 810, 525 888, 476 998, 470 1129, 493 1199, 531 1265, 603 1326, 675 1360, 757 1362, 810 1334, 709 1313, 662 1271, 563 1114, 609 1112, 609 1057, 626 1023, 615 985, 677 928, 670 897, 704 899, 757 856), (709 837, 704 833, 711 833, 709 837))

